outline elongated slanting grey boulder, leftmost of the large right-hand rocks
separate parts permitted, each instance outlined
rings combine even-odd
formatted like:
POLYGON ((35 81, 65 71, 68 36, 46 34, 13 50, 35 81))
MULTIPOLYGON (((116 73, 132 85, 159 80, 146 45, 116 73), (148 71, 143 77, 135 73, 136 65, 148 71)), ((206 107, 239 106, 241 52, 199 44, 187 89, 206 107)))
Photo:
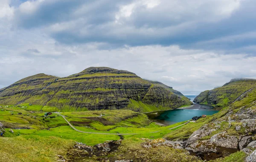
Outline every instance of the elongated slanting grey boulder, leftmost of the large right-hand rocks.
POLYGON ((196 142, 197 140, 203 138, 204 136, 209 136, 210 133, 212 133, 212 131, 216 131, 215 129, 210 129, 208 127, 208 125, 204 125, 202 126, 200 129, 198 129, 197 131, 194 131, 191 136, 189 136, 189 139, 186 143, 186 147, 190 144, 192 144, 193 142, 196 142))

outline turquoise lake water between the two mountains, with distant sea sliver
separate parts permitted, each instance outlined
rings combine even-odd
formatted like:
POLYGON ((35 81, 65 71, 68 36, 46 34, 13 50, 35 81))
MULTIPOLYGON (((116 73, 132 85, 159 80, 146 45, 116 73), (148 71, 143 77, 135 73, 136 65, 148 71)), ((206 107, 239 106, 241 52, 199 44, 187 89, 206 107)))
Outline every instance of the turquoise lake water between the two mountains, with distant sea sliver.
MULTIPOLYGON (((186 96, 193 100, 196 96, 186 96)), ((213 115, 218 113, 218 111, 212 109, 212 106, 208 105, 201 105, 195 104, 192 108, 189 109, 175 109, 169 111, 163 111, 160 116, 156 117, 155 119, 162 120, 166 124, 175 124, 177 122, 182 122, 185 120, 192 119, 195 116, 202 116, 202 115, 213 115)))

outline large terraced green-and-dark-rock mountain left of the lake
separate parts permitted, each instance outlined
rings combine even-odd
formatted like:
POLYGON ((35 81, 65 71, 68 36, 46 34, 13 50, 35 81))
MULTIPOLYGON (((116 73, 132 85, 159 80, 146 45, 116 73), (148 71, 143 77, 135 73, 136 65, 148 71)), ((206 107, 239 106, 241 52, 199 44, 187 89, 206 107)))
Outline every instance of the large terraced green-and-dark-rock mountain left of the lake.
POLYGON ((0 104, 31 103, 59 111, 131 109, 147 112, 178 108, 192 102, 179 91, 136 74, 107 67, 90 67, 58 78, 26 77, 0 90, 0 104))

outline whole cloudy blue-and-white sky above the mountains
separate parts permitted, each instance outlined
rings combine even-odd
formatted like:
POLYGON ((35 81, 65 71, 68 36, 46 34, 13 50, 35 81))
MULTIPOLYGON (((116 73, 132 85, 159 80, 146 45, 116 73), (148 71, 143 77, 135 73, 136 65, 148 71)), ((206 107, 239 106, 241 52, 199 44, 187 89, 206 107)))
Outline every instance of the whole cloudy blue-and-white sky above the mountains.
POLYGON ((0 0, 0 88, 106 66, 185 95, 256 79, 255 0, 0 0))

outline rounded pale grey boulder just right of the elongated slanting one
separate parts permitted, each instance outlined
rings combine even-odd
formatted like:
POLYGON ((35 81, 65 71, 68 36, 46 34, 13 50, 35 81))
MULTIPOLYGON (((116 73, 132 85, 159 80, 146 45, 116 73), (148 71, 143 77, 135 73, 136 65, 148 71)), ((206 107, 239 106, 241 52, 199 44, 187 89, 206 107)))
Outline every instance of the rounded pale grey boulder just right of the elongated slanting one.
POLYGON ((238 148, 238 139, 236 138, 236 136, 230 136, 225 133, 215 134, 211 137, 210 142, 212 142, 216 146, 221 146, 224 148, 238 148))

